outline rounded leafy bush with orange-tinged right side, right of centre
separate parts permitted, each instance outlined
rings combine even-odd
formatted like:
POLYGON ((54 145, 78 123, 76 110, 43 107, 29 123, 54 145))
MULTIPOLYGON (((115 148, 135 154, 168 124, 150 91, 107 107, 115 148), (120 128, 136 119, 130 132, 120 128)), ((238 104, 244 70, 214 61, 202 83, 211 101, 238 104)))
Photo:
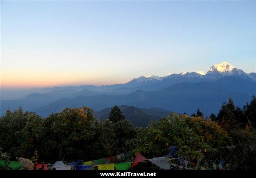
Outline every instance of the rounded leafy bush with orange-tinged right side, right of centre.
POLYGON ((127 142, 133 152, 139 151, 149 158, 167 155, 170 145, 175 145, 177 156, 187 156, 195 161, 212 156, 197 150, 230 144, 227 133, 213 121, 174 113, 138 130, 136 137, 127 142))

